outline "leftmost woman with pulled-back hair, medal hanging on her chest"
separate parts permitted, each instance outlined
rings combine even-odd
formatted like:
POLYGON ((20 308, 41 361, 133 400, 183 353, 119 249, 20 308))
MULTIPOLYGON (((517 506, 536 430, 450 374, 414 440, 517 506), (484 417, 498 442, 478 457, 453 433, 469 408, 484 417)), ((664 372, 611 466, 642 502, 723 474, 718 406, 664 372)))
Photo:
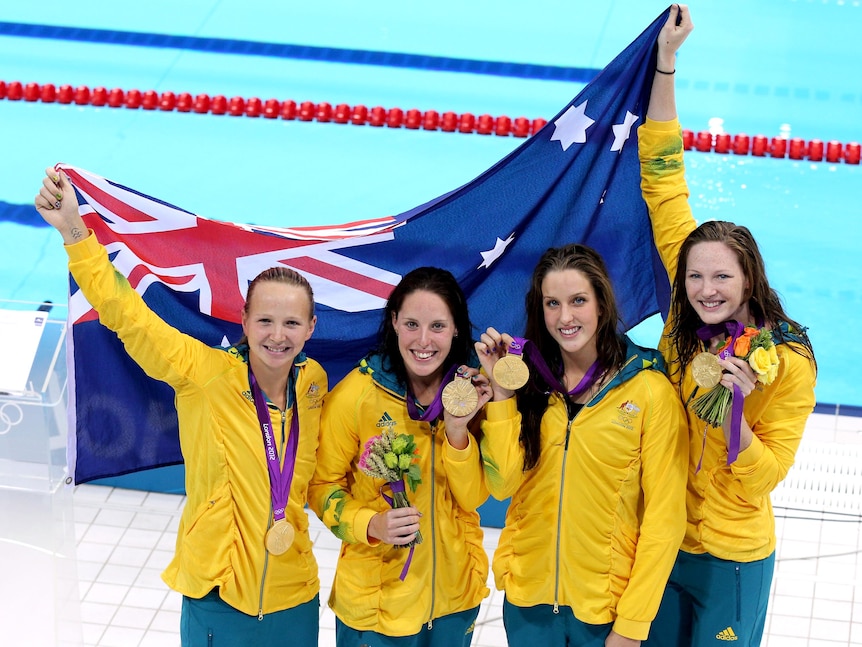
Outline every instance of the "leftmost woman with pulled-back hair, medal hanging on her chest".
POLYGON ((183 646, 289 634, 316 647, 320 581, 303 508, 327 380, 302 352, 316 321, 311 286, 286 268, 263 272, 248 288, 243 340, 210 348, 147 307, 88 231, 65 174, 46 173, 36 208, 62 234, 69 271, 130 357, 176 392, 187 498, 162 578, 183 594, 183 646))

